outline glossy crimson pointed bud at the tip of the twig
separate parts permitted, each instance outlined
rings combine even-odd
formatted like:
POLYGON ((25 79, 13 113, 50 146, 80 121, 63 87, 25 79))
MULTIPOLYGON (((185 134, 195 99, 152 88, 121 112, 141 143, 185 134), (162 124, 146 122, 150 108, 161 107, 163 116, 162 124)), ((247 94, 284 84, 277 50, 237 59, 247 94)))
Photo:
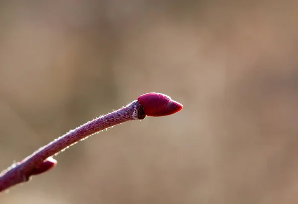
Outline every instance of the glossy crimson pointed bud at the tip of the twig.
POLYGON ((147 116, 167 116, 177 113, 183 108, 182 104, 162 93, 146 93, 139 96, 138 101, 147 116))

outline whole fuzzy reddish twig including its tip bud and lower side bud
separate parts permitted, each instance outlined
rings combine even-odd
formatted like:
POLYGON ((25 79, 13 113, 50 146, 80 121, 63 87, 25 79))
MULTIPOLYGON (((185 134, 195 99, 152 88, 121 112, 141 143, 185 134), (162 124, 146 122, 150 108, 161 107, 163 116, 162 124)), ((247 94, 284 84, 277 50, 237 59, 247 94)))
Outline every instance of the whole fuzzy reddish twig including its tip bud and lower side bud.
POLYGON ((0 173, 0 192, 16 184, 28 181, 31 175, 37 175, 50 170, 57 163, 57 161, 52 158, 53 155, 58 154, 60 151, 63 151, 87 136, 127 121, 142 120, 146 117, 147 112, 149 113, 148 115, 154 116, 154 113, 156 112, 155 109, 158 108, 158 106, 160 106, 158 110, 159 112, 161 111, 162 114, 156 113, 155 116, 170 115, 182 109, 181 104, 172 101, 169 97, 166 101, 170 104, 170 106, 160 103, 160 101, 164 100, 162 98, 163 96, 168 97, 158 93, 144 94, 140 96, 140 102, 133 101, 126 107, 85 123, 64 136, 58 137, 49 144, 41 147, 30 156, 13 164, 11 167, 0 173), (142 106, 142 103, 144 104, 144 107, 142 106), (156 105, 153 105, 152 107, 154 110, 152 111, 150 110, 152 108, 150 107, 150 104, 154 103, 157 104, 157 107, 156 105), (160 110, 164 107, 165 110, 160 110))

